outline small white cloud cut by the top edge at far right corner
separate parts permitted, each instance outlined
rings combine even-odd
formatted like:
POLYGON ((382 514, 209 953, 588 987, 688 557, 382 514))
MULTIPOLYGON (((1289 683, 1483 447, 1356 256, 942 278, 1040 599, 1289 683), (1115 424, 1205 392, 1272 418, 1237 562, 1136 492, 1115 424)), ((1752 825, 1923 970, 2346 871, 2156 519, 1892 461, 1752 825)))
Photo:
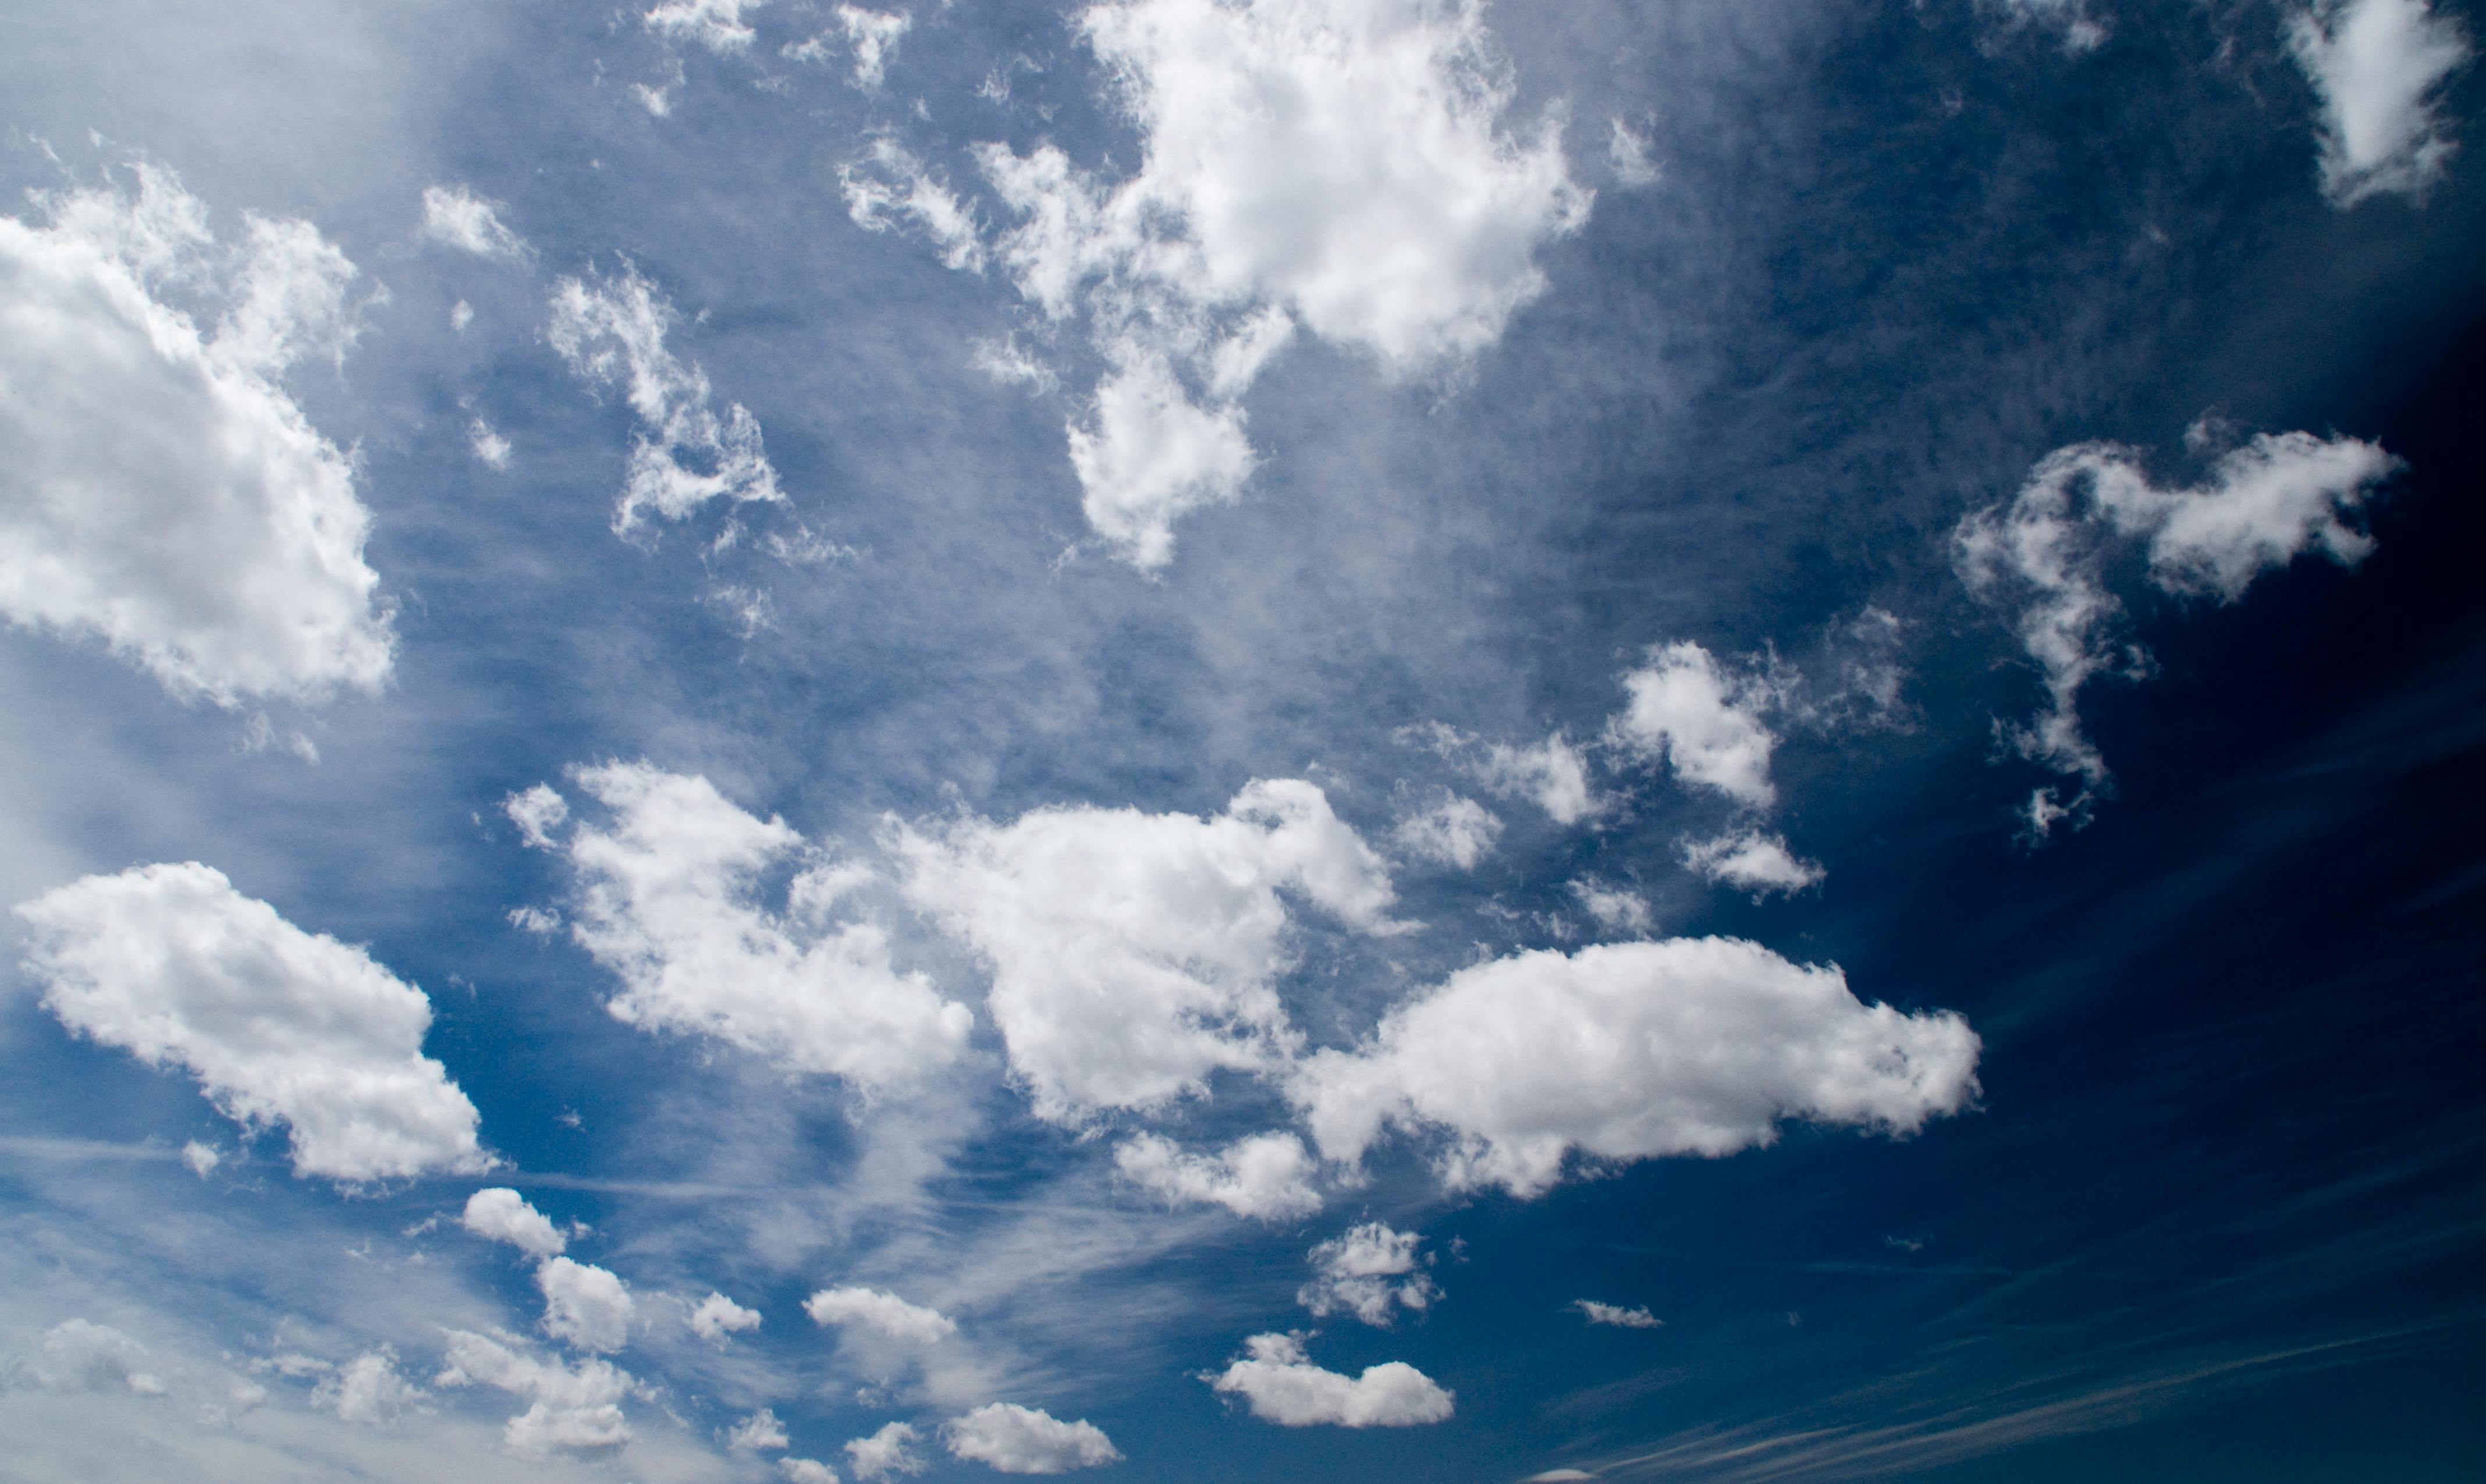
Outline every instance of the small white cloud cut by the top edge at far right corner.
POLYGON ((2287 45, 2322 94, 2322 191, 2334 206, 2424 196, 2451 162, 2441 85, 2469 65, 2469 35, 2426 0, 2317 0, 2287 45))

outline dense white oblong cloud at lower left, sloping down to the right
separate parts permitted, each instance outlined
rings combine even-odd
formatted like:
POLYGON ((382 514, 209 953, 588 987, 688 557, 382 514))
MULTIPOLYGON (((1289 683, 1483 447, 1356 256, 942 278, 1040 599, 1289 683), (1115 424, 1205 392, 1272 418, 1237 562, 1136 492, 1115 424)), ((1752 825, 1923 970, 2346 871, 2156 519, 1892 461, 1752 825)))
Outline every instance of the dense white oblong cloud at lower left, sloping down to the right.
POLYGON ((199 863, 89 875, 17 907, 27 972, 72 1032, 186 1066, 216 1109, 283 1124, 293 1173, 482 1171, 475 1104, 423 1054, 433 1004, 199 863))

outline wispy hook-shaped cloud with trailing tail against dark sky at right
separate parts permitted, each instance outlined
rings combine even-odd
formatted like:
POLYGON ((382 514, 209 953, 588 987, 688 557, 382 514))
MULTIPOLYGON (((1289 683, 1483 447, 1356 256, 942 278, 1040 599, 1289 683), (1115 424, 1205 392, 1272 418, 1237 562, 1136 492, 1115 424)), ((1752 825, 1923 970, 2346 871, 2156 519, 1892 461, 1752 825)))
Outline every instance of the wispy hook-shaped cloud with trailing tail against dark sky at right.
POLYGON ((2362 562, 2374 542, 2344 517, 2397 467, 2372 442, 2282 433, 2230 450, 2190 490, 2163 490, 2135 450, 2076 442, 2039 460, 2009 502, 1959 522, 1959 577, 2016 609, 2021 649, 2046 676, 2046 711, 2004 736, 2024 758, 2081 781, 2068 803, 2048 788, 2031 798, 2034 833, 2086 818, 2108 776, 2081 731, 2081 689, 2101 674, 2148 669, 2145 654, 2121 639, 2123 604, 2108 587, 2118 539, 2145 542, 2158 589, 2235 602, 2255 577, 2312 549, 2342 567, 2362 562))

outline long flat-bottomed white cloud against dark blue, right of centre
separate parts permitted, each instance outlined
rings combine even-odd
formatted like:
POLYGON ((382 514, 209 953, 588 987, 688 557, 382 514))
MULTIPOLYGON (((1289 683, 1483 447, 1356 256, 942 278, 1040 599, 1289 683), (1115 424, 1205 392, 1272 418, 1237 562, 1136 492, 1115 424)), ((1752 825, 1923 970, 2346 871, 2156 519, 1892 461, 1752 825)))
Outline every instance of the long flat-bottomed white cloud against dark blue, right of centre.
POLYGON ((1725 1156, 1780 1119, 1912 1134, 1969 1104, 1976 1051, 1956 1014, 1862 1004, 1837 967, 1676 937, 1459 969, 1360 1051, 1305 1059, 1295 1099, 1330 1158, 1442 1129, 1444 1183, 1536 1196, 1574 1151, 1725 1156))

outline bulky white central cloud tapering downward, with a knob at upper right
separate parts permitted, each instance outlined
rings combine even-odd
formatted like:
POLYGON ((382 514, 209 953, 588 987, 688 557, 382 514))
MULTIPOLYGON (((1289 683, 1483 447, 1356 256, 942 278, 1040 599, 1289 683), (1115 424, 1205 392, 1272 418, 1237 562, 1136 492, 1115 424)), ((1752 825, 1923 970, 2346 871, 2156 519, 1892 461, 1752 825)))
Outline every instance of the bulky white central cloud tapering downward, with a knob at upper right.
POLYGON ((992 964, 992 1019, 1037 1114, 1151 1109, 1211 1071, 1268 1071, 1295 1034, 1280 890, 1387 932, 1390 873, 1313 783, 1223 813, 1042 808, 897 830, 907 895, 992 964))

